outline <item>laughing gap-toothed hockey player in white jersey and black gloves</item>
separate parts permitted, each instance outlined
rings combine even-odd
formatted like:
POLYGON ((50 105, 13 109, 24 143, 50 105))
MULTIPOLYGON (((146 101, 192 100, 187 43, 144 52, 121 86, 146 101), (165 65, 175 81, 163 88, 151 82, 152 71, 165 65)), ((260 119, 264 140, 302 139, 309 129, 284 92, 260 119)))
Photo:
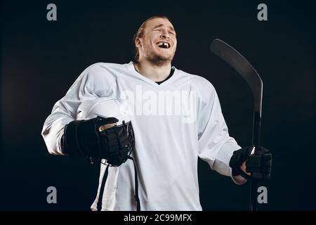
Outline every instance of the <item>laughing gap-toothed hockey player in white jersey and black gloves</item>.
MULTIPOLYGON (((146 20, 134 41, 134 61, 86 68, 55 103, 41 134, 51 154, 112 160, 119 170, 117 179, 107 181, 112 188, 105 188, 104 196, 112 197, 102 209, 136 210, 133 162, 109 156, 124 152, 128 132, 118 129, 100 136, 99 127, 117 122, 113 117, 77 120, 83 101, 114 98, 129 108, 141 210, 202 210, 197 159, 244 184, 250 175, 245 162, 254 148, 241 148, 229 136, 216 90, 208 80, 171 66, 177 38, 168 18, 146 20)), ((256 154, 270 153, 261 147, 256 154)), ((270 166, 260 165, 258 171, 268 174, 270 166)))

